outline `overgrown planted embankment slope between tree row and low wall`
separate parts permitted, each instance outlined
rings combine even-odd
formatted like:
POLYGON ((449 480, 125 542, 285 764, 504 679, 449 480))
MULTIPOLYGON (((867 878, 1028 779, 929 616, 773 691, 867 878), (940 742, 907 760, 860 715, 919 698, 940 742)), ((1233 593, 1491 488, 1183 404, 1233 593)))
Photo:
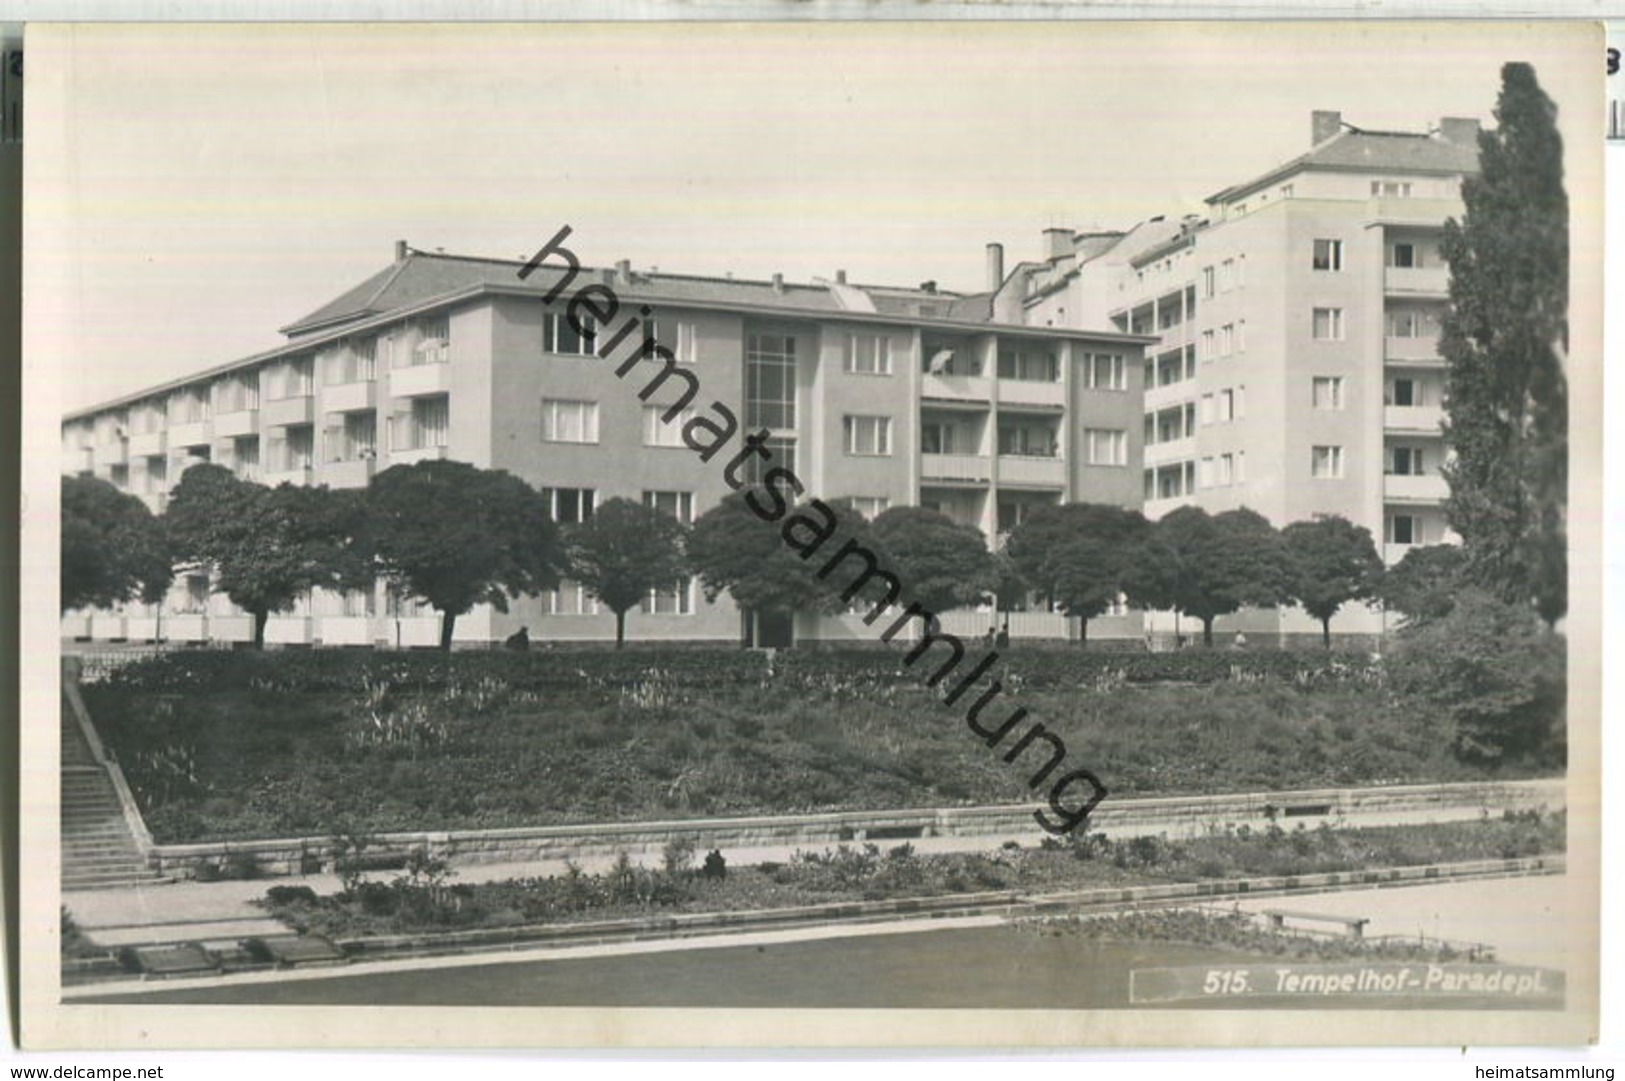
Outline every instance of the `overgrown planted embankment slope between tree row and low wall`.
MULTIPOLYGON (((1116 798, 1562 767, 1461 762, 1425 699, 1318 652, 1017 652, 994 675, 985 720, 1024 705, 1116 798)), ((882 650, 172 653, 86 702, 161 842, 1030 797, 882 650)))

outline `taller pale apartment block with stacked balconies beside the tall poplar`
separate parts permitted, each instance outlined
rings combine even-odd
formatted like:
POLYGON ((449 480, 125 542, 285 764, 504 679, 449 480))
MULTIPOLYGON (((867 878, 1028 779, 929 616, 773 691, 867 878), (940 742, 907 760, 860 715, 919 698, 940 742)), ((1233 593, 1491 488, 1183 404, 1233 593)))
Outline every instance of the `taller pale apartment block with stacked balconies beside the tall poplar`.
MULTIPOLYGON (((1186 504, 1245 506, 1276 525, 1341 514, 1398 562, 1454 540, 1440 475, 1440 239, 1462 213, 1477 135, 1471 119, 1367 132, 1315 112, 1305 154, 1211 195, 1206 215, 1050 229, 1045 258, 1017 267, 994 307, 1157 338, 1142 372, 1149 517, 1186 504)), ((1294 611, 1227 626, 1316 629, 1294 611)), ((1381 627, 1362 606, 1332 623, 1381 627)))

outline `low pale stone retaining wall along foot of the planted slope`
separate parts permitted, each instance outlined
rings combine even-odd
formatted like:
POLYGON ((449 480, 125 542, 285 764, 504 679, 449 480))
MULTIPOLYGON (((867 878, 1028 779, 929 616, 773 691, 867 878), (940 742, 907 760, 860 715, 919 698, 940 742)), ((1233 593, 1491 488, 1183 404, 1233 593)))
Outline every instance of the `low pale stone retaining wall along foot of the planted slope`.
MULTIPOLYGON (((1482 814, 1498 816, 1503 811, 1560 810, 1565 803, 1562 779, 1108 800, 1090 818, 1089 832, 1105 832, 1113 837, 1167 834, 1170 839, 1190 839, 1225 826, 1248 826, 1258 831, 1271 823, 1295 829, 1298 823, 1313 827, 1321 823, 1381 824, 1384 819, 1461 821, 1482 814)), ((904 842, 926 837, 978 837, 990 844, 1001 839, 1030 842, 1046 836, 1032 818, 1035 806, 1038 805, 400 832, 370 837, 372 844, 364 855, 387 860, 388 853, 405 857, 422 849, 452 863, 522 863, 609 857, 618 852, 634 858, 658 857, 668 842, 679 839, 691 840, 697 849, 723 852, 824 847, 863 840, 904 842)), ((332 870, 333 840, 294 837, 154 845, 150 858, 154 870, 179 876, 193 875, 200 863, 221 866, 228 862, 252 862, 270 875, 309 875, 332 870)))

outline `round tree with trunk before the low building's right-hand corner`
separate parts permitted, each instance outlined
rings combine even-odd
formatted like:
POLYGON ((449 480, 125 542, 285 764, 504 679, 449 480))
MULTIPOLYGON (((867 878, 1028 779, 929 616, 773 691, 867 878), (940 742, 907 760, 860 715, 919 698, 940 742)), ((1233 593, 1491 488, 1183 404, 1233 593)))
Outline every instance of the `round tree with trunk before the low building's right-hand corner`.
POLYGON ((1006 551, 1022 577, 1082 621, 1102 616, 1141 574, 1150 525, 1139 510, 1069 502, 1043 507, 1011 532, 1006 551))

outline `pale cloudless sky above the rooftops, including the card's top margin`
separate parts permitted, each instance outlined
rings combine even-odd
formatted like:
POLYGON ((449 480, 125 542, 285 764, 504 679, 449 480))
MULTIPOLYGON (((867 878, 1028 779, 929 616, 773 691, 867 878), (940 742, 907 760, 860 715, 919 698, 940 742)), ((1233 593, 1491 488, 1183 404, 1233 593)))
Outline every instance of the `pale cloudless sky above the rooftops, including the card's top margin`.
MULTIPOLYGON (((31 29, 26 376, 58 410, 223 364, 393 242, 983 284, 1365 128, 1490 119, 1529 60, 1570 145, 1601 39, 1557 24, 31 29), (1583 62, 1581 62, 1583 60, 1583 62), (41 72, 44 75, 41 76, 41 72), (36 78, 39 76, 39 78, 36 78)), ((1589 148, 1588 148, 1589 150, 1589 148)), ((1571 190, 1571 195, 1576 192, 1571 190)), ((1578 195, 1583 195, 1578 193, 1578 195)))

